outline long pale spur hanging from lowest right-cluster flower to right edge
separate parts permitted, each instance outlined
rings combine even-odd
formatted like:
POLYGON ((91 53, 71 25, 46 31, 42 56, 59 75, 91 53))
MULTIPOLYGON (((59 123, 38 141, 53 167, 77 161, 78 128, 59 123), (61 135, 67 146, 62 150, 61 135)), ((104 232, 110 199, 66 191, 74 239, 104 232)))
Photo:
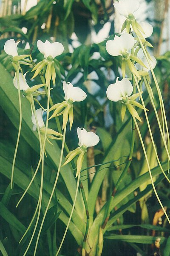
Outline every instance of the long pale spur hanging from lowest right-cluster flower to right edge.
POLYGON ((143 143, 143 140, 142 140, 142 135, 141 135, 140 130, 139 130, 139 126, 138 126, 138 124, 137 124, 137 122, 136 122, 135 117, 133 117, 133 120, 134 120, 134 122, 135 122, 136 129, 137 129, 138 134, 139 134, 139 139, 140 139, 140 141, 141 141, 142 148, 143 148, 143 151, 144 151, 144 156, 145 156, 145 159, 146 159, 146 162, 147 162, 147 167, 148 167, 149 174, 150 174, 150 180, 151 180, 151 183, 152 183, 152 186, 153 186, 153 191, 155 192, 156 198, 158 199, 159 204, 160 204, 160 206, 161 206, 161 208, 162 208, 162 210, 163 210, 163 212, 164 212, 165 216, 167 217, 167 220, 168 220, 168 222, 169 222, 169 224, 170 224, 170 219, 169 219, 169 217, 168 217, 168 215, 167 215, 167 212, 166 212, 166 210, 164 209, 164 206, 162 205, 161 200, 160 200, 160 198, 159 198, 159 196, 158 196, 158 194, 157 194, 157 192, 156 192, 156 188, 155 188, 155 185, 154 185, 154 182, 153 182, 152 173, 151 173, 151 170, 150 170, 149 161, 148 161, 148 158, 147 158, 147 153, 146 153, 146 150, 145 150, 145 147, 144 147, 144 143, 143 143))

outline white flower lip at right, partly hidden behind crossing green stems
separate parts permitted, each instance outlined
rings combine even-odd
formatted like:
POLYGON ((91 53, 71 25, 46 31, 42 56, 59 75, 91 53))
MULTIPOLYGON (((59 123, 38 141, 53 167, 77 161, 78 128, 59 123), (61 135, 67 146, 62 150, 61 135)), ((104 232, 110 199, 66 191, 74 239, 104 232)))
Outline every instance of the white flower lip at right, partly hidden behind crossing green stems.
MULTIPOLYGON (((146 72, 150 71, 150 66, 147 62, 146 57, 144 56, 144 53, 143 53, 142 49, 139 50, 137 56, 138 56, 138 58, 140 58, 142 60, 143 64, 147 67, 147 68, 145 68, 145 67, 139 65, 138 63, 136 63, 137 69, 138 70, 143 70, 143 71, 146 71, 146 72)), ((154 56, 150 56, 150 58, 151 58, 150 65, 151 65, 152 69, 154 69, 156 67, 156 63, 157 63, 156 58, 154 56)))

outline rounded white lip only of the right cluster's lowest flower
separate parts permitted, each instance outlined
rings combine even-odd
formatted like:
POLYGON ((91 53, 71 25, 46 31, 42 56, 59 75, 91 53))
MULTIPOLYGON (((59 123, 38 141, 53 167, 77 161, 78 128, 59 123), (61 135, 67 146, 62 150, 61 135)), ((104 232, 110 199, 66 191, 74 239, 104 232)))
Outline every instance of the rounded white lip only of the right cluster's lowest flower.
POLYGON ((106 95, 108 99, 113 102, 117 102, 122 100, 127 103, 128 96, 130 96, 133 92, 133 86, 127 78, 122 79, 121 81, 116 79, 116 83, 110 84, 106 91, 106 95))

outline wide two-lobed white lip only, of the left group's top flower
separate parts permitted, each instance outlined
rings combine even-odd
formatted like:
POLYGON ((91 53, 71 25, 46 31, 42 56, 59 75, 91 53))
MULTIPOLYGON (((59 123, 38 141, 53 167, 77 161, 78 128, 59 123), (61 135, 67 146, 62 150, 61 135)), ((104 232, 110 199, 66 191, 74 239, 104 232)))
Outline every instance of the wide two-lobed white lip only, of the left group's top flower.
POLYGON ((64 51, 64 47, 61 43, 50 43, 48 40, 46 40, 45 43, 43 43, 41 40, 38 40, 37 47, 46 59, 48 56, 52 56, 54 59, 56 56, 61 55, 64 51))

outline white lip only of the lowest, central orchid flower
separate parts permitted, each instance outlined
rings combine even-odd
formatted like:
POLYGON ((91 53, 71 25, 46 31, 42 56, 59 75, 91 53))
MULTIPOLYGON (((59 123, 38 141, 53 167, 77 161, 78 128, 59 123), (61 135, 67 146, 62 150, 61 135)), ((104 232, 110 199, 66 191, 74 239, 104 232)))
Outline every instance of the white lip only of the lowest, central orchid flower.
POLYGON ((86 131, 85 128, 77 128, 77 135, 79 138, 79 147, 83 151, 88 147, 93 147, 99 143, 99 136, 96 135, 93 131, 86 131))

